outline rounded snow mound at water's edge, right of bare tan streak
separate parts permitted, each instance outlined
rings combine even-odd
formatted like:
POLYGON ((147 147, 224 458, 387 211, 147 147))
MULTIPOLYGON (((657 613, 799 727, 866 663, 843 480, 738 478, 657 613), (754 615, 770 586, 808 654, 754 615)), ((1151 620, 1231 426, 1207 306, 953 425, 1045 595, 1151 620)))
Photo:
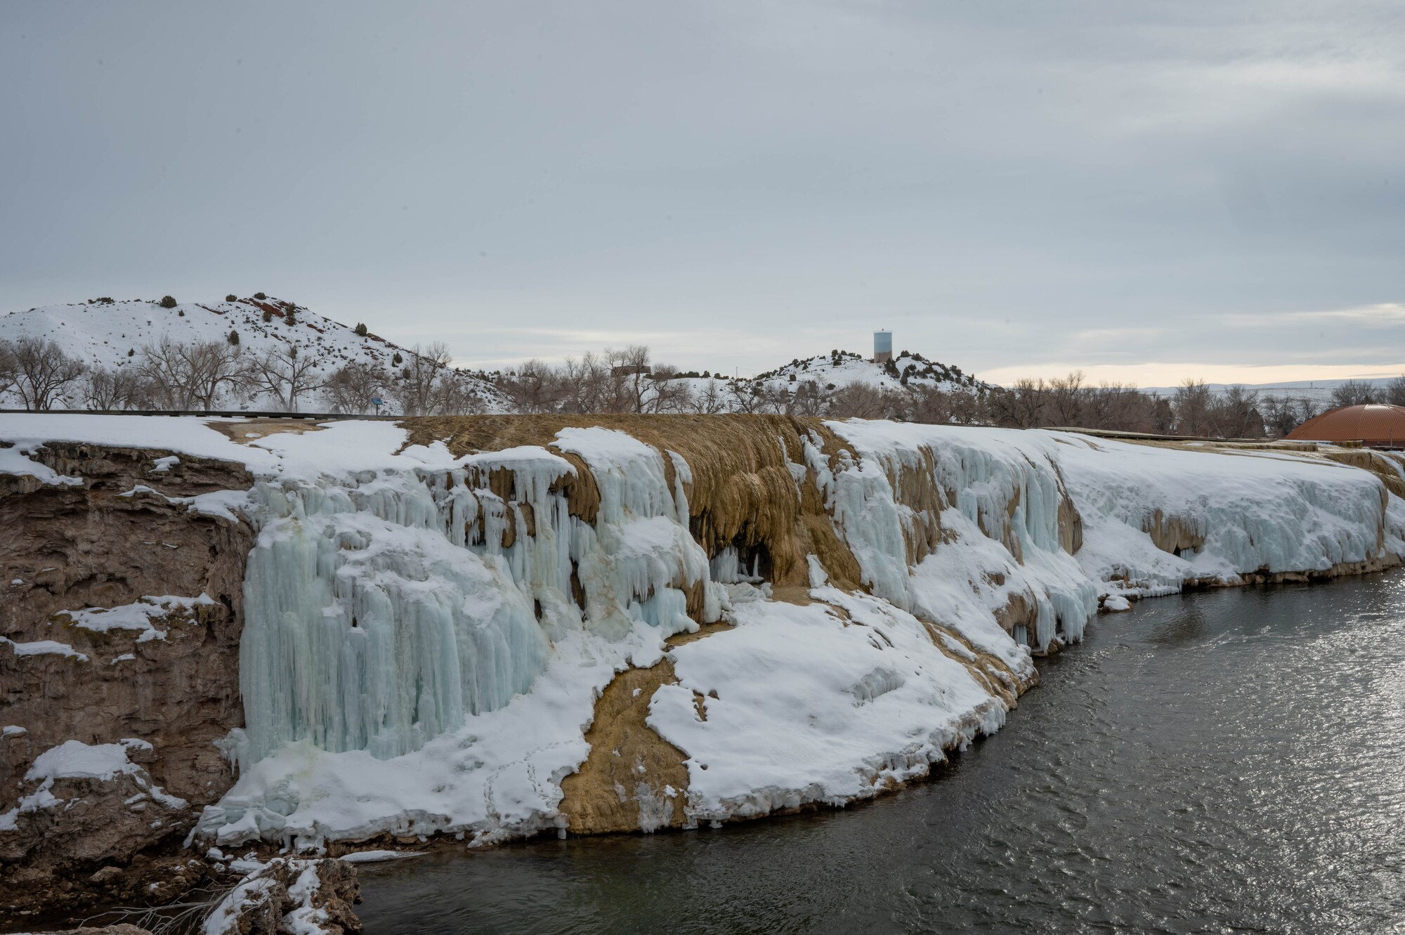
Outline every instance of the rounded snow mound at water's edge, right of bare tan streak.
POLYGON ((910 614, 811 595, 822 602, 739 605, 735 629, 670 653, 679 682, 653 695, 648 724, 688 754, 695 821, 868 797, 1005 723, 910 614))

